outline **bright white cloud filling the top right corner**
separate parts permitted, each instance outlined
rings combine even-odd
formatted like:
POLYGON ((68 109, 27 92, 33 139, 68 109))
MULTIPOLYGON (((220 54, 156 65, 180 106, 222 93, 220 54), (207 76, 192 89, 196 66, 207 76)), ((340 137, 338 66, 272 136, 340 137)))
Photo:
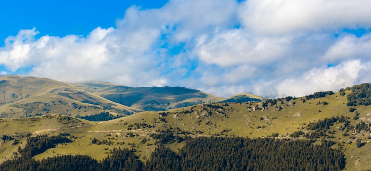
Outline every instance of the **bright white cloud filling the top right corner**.
POLYGON ((262 34, 369 28, 370 6, 370 0, 247 0, 239 17, 262 34))

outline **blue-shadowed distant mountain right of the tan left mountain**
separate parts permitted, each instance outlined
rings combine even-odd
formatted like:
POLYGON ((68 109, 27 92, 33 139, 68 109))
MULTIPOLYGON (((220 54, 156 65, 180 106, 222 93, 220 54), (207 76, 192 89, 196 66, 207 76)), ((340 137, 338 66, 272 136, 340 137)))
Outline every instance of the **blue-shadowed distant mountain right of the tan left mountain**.
POLYGON ((110 101, 145 111, 164 111, 223 99, 185 87, 127 87, 106 82, 84 82, 74 85, 110 101))

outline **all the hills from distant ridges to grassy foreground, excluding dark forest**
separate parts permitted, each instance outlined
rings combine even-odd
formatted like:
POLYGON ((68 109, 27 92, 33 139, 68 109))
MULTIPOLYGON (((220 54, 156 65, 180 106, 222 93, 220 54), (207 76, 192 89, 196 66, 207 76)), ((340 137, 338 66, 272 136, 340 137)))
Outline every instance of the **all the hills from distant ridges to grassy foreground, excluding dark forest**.
MULTIPOLYGON (((132 88, 104 82, 66 84, 46 78, 21 76, 5 76, 0 80, 1 97, 4 97, 0 101, 3 112, 0 119, 0 163, 6 165, 9 163, 4 161, 18 159, 30 145, 36 148, 38 142, 42 141, 53 143, 38 147, 36 152, 31 153, 32 160, 84 155, 105 161, 108 155, 114 154, 115 149, 126 148, 139 161, 147 162, 145 165, 148 166, 149 161, 164 156, 173 157, 172 162, 181 160, 186 155, 184 148, 191 142, 206 146, 197 154, 215 152, 217 156, 232 154, 233 158, 235 150, 238 151, 242 146, 241 142, 250 142, 248 138, 251 138, 254 142, 264 141, 266 145, 252 146, 252 151, 246 154, 264 151, 273 139, 274 142, 283 143, 283 146, 278 143, 272 150, 299 155, 295 166, 307 165, 300 162, 308 159, 315 162, 317 170, 325 165, 330 166, 322 168, 324 170, 366 171, 371 168, 369 83, 344 87, 337 92, 314 92, 303 97, 265 99, 239 94, 223 99, 181 87, 132 88), (194 102, 194 99, 201 102, 176 108, 177 104, 194 102), (148 102, 157 103, 149 105, 148 102), (79 106, 74 107, 73 103, 79 106), (23 112, 29 113, 25 115, 23 112), (107 119, 98 113, 125 117, 107 119), (51 141, 55 136, 62 140, 51 141), (36 141, 32 141, 32 138, 36 138, 36 141), (239 145, 229 149, 234 152, 227 151, 225 154, 223 150, 212 148, 202 138, 216 138, 222 143, 221 148, 230 145, 225 143, 228 139, 235 140, 239 145), (290 145, 286 143, 303 143, 304 146, 299 145, 299 148, 311 146, 321 150, 312 150, 311 154, 307 154, 308 151, 297 153, 289 149, 290 145), (168 151, 165 153, 161 150, 168 151), (337 155, 330 153, 331 150, 335 150, 337 155), (321 155, 313 157, 313 154, 321 155), (331 163, 328 163, 329 160, 331 163)), ((196 147, 188 148, 197 150, 196 147)), ((194 151, 189 153, 196 154, 194 151)), ((264 158, 279 161, 275 156, 282 154, 269 153, 264 158)), ((223 165, 223 161, 221 163, 223 165)), ((306 167, 313 165, 311 163, 306 167)))

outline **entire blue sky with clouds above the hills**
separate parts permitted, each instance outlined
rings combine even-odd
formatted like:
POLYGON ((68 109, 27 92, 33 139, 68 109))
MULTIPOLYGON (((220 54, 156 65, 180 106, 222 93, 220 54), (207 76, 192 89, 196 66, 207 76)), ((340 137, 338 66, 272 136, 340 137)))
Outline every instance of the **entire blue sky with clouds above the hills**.
POLYGON ((304 96, 371 82, 370 0, 12 0, 0 74, 304 96))

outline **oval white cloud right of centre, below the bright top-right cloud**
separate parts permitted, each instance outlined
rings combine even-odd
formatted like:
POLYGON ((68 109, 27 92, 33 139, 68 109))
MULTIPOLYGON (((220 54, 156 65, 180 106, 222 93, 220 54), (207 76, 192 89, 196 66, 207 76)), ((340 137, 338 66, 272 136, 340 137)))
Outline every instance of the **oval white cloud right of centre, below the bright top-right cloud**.
POLYGON ((243 29, 232 29, 198 39, 196 53, 207 64, 223 67, 236 64, 263 64, 281 57, 290 38, 266 38, 249 35, 243 29))

